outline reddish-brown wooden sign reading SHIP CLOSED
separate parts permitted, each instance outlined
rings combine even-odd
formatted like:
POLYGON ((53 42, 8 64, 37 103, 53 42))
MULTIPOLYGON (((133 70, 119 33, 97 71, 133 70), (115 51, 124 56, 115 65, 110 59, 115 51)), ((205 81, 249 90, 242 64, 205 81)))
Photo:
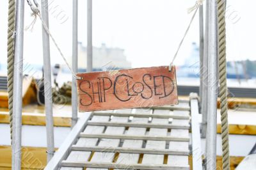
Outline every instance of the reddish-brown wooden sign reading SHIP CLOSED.
POLYGON ((178 104, 175 67, 77 73, 79 111, 178 104))

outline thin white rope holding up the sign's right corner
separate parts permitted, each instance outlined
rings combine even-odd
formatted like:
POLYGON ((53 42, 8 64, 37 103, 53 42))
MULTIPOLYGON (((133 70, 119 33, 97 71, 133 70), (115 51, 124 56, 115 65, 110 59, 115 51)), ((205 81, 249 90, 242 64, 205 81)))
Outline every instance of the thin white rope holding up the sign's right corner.
POLYGON ((169 65, 169 71, 170 71, 170 72, 172 71, 173 62, 174 62, 175 58, 177 57, 177 54, 178 54, 178 52, 179 52, 179 50, 180 50, 180 47, 181 47, 181 45, 182 45, 182 43, 183 43, 183 41, 184 41, 186 35, 188 34, 189 28, 190 28, 190 26, 191 26, 191 24, 192 24, 192 22, 193 22, 193 20, 194 20, 194 18, 195 18, 196 12, 197 12, 199 6, 203 4, 203 1, 204 1, 204 0, 197 0, 194 6, 192 6, 191 8, 188 8, 188 13, 193 12, 193 10, 195 10, 195 12, 194 12, 194 14, 193 14, 193 16, 192 16, 192 18, 191 18, 191 20, 190 20, 190 22, 189 22, 188 28, 186 29, 186 32, 185 32, 184 36, 182 37, 182 39, 181 39, 181 41, 180 41, 180 43, 179 43, 179 46, 178 46, 178 48, 177 48, 177 51, 175 52, 175 54, 174 54, 174 56, 173 56, 172 62, 171 62, 170 65, 169 65))

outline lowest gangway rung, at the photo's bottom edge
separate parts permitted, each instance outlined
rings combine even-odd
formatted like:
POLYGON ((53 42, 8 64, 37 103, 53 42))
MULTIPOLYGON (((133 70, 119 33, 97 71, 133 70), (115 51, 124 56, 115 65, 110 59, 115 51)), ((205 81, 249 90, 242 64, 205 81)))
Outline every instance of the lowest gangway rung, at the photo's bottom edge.
POLYGON ((188 170, 189 165, 166 165, 166 164, 121 164, 105 162, 87 162, 87 161, 70 161, 63 160, 61 166, 67 167, 94 167, 94 168, 115 168, 115 169, 168 169, 168 170, 188 170))

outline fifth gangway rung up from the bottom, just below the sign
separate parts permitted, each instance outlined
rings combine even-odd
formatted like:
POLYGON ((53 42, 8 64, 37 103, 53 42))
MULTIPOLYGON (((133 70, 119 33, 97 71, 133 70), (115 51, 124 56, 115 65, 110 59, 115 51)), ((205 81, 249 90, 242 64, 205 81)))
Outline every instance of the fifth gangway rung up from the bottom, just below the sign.
POLYGON ((176 120, 189 120, 189 118, 190 118, 190 116, 183 116, 183 115, 140 114, 140 113, 120 113, 120 112, 93 112, 93 115, 95 115, 95 116, 122 116, 122 117, 133 116, 135 118, 161 118, 161 119, 173 118, 176 120))

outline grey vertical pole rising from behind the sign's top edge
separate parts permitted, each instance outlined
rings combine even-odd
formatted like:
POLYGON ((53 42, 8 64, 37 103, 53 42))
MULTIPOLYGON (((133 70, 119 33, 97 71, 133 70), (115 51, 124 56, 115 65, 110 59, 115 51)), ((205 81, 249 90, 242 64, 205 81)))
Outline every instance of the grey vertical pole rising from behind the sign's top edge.
POLYGON ((87 0, 87 72, 92 72, 92 0, 87 0))

